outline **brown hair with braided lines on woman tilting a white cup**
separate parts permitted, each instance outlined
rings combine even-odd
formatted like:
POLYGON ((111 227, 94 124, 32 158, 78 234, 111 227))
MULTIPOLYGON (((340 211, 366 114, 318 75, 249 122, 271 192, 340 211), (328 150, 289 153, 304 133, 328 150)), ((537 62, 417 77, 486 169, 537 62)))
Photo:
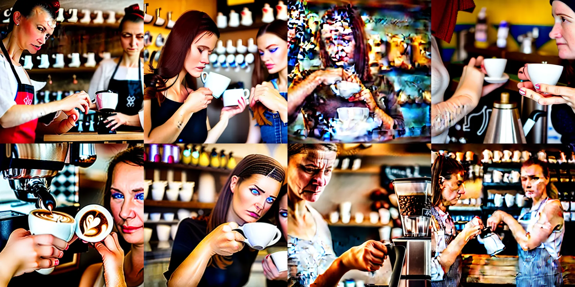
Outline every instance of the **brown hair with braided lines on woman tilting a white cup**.
MULTIPOLYGON (((212 214, 208 220, 207 233, 212 232, 212 230, 220 226, 220 224, 227 222, 229 205, 231 205, 233 197, 232 189, 230 188, 232 176, 239 177, 237 180, 237 185, 239 185, 241 181, 250 178, 253 174, 262 174, 280 183, 283 183, 285 179, 285 170, 277 160, 269 156, 264 156, 263 154, 248 154, 237 163, 236 167, 229 174, 228 180, 225 181, 224 186, 221 188, 216 206, 212 210, 212 214)), ((208 262, 208 266, 211 265, 220 269, 225 269, 231 264, 232 260, 230 257, 217 254, 208 262)))

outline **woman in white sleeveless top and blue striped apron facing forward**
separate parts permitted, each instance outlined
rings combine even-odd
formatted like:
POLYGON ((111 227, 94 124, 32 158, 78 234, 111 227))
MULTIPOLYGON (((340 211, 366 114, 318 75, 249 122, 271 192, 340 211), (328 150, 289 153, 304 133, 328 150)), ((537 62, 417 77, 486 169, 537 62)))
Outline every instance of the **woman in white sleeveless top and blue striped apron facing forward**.
POLYGON ((487 225, 495 230, 505 223, 517 241, 519 274, 518 287, 562 286, 559 253, 565 227, 563 208, 557 190, 549 183, 547 163, 531 158, 521 166, 521 185, 525 197, 532 200, 530 208, 523 208, 519 219, 504 211, 493 212, 487 225))

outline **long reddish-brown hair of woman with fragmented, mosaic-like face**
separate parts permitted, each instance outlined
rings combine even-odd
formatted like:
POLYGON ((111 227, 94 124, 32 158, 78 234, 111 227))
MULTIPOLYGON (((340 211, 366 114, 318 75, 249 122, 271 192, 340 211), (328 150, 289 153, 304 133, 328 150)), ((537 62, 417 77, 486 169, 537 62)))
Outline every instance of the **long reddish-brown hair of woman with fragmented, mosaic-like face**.
MULTIPOLYGON (((324 17, 326 15, 332 13, 333 11, 338 10, 347 10, 347 14, 350 16, 351 20, 351 30, 354 33, 354 61, 355 61, 355 73, 359 76, 359 79, 363 81, 369 81, 370 77, 370 70, 369 70, 369 46, 367 45, 367 38, 365 36, 365 24, 363 24, 363 20, 359 16, 359 12, 355 7, 348 4, 344 7, 333 7, 332 9, 325 12, 324 17)), ((327 49, 325 49, 325 43, 321 40, 321 27, 323 26, 323 22, 320 24, 320 29, 317 30, 316 39, 319 39, 319 47, 320 47, 320 59, 323 63, 324 67, 333 67, 334 63, 331 60, 327 53, 327 49)))

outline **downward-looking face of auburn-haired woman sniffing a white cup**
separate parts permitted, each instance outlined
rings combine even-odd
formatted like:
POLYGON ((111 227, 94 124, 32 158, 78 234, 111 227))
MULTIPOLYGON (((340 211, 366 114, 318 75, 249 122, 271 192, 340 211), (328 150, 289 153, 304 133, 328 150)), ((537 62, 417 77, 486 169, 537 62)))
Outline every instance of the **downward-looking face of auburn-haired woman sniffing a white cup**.
POLYGON ((216 48, 217 37, 212 33, 204 33, 197 36, 191 43, 190 51, 187 52, 183 67, 193 77, 200 77, 206 64, 209 64, 208 56, 216 48))

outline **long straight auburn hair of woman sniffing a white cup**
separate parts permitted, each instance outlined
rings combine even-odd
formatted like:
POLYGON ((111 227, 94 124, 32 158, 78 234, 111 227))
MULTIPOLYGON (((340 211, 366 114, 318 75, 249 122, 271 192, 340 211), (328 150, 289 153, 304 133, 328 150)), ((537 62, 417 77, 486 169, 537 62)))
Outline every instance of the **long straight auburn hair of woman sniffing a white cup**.
MULTIPOLYGON (((178 78, 176 78, 174 83, 166 86, 167 80, 179 76, 191 44, 197 42, 197 40, 194 41, 196 37, 212 34, 220 37, 216 23, 205 12, 187 10, 180 15, 170 35, 166 38, 156 68, 154 68, 154 57, 158 51, 152 52, 150 56, 150 71, 154 75, 146 83, 148 87, 144 90, 144 99, 155 98, 158 100, 158 104, 161 104, 166 98, 162 92, 178 83, 178 78)), ((185 79, 186 83, 191 83, 191 76, 188 73, 186 73, 185 79)))

